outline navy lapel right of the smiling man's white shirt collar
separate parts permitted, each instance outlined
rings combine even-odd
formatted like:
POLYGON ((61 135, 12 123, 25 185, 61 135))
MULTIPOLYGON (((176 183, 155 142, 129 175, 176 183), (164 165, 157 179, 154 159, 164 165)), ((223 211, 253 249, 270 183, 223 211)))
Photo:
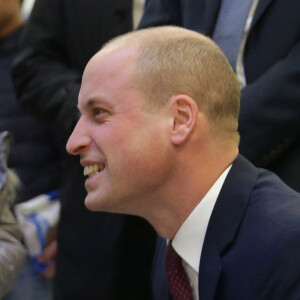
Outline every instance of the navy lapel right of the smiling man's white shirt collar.
POLYGON ((224 182, 206 231, 199 269, 201 300, 212 300, 216 295, 222 254, 235 238, 256 178, 256 168, 239 155, 224 182))

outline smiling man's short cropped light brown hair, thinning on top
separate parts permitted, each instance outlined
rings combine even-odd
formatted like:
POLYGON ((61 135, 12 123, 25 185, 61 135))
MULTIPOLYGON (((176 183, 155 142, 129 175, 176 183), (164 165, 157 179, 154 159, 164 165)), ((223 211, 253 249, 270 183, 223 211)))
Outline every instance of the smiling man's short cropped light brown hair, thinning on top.
POLYGON ((205 113, 213 132, 239 140, 239 83, 225 55, 210 38, 176 26, 162 26, 130 32, 107 46, 115 43, 138 47, 133 77, 146 95, 148 110, 158 111, 171 96, 185 94, 205 113))

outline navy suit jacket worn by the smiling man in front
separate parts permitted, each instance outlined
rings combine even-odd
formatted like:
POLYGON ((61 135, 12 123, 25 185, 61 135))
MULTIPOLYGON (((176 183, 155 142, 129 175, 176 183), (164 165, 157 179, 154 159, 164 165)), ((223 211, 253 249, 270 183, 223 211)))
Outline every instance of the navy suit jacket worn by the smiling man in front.
MULTIPOLYGON (((158 241, 154 260, 155 300, 168 299, 165 245, 158 241)), ((300 195, 242 156, 233 163, 209 221, 199 298, 300 299, 300 195)))

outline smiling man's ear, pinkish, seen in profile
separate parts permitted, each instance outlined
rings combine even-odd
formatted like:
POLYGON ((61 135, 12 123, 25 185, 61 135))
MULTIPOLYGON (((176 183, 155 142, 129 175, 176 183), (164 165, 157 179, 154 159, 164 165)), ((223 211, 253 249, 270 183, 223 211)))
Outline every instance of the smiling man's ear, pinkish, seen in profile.
POLYGON ((177 95, 172 99, 173 127, 171 140, 179 145, 185 142, 196 126, 198 107, 194 99, 187 95, 177 95))

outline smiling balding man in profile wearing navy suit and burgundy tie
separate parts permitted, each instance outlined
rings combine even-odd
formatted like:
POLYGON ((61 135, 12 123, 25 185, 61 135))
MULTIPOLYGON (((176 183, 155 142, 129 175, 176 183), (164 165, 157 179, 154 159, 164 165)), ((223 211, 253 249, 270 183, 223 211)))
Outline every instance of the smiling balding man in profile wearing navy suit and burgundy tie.
POLYGON ((238 154, 239 97, 214 42, 177 27, 118 37, 85 69, 67 150, 89 209, 142 216, 171 240, 155 299, 300 297, 300 197, 238 154))

